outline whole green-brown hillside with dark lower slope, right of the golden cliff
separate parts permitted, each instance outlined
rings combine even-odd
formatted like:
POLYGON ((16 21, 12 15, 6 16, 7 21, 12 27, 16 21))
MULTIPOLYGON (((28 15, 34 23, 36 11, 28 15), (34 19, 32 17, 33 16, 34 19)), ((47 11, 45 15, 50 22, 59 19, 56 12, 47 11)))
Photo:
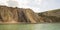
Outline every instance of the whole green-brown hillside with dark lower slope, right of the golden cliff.
POLYGON ((46 11, 42 13, 37 13, 39 16, 42 16, 45 21, 49 20, 51 22, 60 22, 60 9, 55 9, 52 11, 46 11))

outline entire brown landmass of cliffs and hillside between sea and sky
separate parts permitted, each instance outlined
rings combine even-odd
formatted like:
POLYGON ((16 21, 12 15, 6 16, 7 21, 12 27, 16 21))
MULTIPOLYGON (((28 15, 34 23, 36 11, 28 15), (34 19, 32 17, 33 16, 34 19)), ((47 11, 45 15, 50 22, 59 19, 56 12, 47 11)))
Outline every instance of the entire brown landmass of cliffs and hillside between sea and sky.
POLYGON ((60 9, 35 13, 31 9, 0 6, 0 23, 60 22, 60 9))

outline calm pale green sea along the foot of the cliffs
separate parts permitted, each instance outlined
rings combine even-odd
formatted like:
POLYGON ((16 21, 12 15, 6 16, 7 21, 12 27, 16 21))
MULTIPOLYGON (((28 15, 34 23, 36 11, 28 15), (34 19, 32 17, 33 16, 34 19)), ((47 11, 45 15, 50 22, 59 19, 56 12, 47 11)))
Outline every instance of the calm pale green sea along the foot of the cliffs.
POLYGON ((60 30, 60 23, 0 24, 0 30, 60 30))

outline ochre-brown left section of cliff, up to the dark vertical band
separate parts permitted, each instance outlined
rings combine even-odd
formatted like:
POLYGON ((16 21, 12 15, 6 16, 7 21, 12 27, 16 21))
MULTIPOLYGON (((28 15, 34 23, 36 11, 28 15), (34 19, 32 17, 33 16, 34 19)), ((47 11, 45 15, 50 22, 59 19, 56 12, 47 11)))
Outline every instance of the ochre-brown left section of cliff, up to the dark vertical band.
POLYGON ((18 21, 18 13, 15 8, 0 6, 0 16, 2 22, 18 21))

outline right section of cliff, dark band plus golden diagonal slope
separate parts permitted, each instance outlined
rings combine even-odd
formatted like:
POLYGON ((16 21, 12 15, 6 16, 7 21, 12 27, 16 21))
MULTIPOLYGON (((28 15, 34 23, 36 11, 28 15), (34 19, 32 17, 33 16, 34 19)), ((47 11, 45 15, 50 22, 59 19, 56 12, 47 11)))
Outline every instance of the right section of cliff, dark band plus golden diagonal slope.
POLYGON ((40 23, 43 20, 29 8, 27 9, 20 8, 18 10, 18 17, 19 22, 26 23, 40 23))

